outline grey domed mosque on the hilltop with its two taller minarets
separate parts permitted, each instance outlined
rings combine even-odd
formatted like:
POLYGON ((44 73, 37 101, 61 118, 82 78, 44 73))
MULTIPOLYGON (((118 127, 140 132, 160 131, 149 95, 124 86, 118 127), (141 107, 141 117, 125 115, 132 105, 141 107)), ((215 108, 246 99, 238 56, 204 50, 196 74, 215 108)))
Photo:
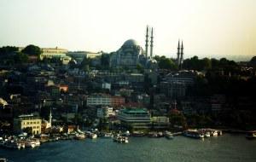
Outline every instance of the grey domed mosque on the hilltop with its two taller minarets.
POLYGON ((135 68, 142 65, 146 68, 157 67, 157 62, 153 59, 153 28, 150 29, 150 55, 148 55, 148 32, 147 26, 145 50, 134 39, 129 39, 110 56, 110 67, 135 68))

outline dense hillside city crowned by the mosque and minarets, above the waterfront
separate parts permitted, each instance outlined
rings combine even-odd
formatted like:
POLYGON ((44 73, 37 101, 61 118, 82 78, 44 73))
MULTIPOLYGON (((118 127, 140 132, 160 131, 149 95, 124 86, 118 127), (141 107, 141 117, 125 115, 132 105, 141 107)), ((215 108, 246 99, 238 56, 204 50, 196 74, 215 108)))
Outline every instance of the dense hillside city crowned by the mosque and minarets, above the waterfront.
POLYGON ((147 27, 145 48, 129 39, 112 53, 0 48, 0 133, 256 129, 255 56, 185 59, 178 40, 167 58, 153 39, 147 27))

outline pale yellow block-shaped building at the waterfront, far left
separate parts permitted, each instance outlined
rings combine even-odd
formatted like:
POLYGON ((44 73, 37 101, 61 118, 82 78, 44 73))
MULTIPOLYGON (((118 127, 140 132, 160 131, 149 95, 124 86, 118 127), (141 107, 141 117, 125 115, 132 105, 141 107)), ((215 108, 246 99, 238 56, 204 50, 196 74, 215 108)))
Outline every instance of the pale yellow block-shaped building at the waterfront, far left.
POLYGON ((41 134, 41 124, 42 119, 33 114, 20 115, 18 118, 14 119, 14 130, 16 132, 27 131, 33 135, 41 134))

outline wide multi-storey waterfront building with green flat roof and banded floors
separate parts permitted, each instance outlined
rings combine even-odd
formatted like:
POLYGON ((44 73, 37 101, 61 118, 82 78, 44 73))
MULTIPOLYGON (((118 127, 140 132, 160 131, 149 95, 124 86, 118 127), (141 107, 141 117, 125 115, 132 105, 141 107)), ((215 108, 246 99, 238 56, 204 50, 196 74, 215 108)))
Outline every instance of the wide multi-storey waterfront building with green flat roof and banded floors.
POLYGON ((145 108, 125 108, 119 111, 118 119, 127 128, 150 129, 151 115, 145 108))

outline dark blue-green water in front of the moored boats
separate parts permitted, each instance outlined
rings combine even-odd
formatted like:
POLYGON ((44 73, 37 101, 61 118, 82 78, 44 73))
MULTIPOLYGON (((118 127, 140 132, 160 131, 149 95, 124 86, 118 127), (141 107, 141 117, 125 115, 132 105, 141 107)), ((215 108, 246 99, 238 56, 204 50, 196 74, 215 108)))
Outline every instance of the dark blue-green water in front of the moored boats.
POLYGON ((98 138, 85 141, 44 143, 40 148, 9 150, 0 148, 0 157, 12 161, 256 161, 256 140, 225 134, 205 140, 176 136, 166 138, 130 137, 128 144, 98 138))

